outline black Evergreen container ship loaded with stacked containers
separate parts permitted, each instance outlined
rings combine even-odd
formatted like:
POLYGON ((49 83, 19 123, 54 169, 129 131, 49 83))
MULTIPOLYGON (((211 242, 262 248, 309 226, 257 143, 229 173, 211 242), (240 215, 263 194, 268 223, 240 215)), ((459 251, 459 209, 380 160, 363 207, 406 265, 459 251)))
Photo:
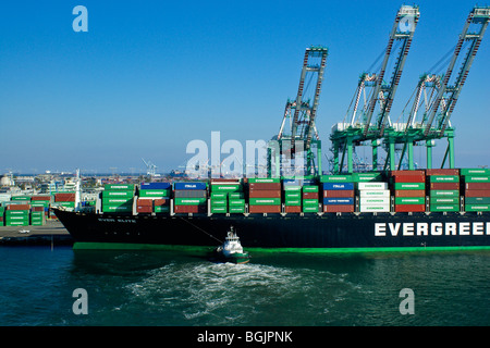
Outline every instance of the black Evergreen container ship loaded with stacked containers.
POLYGON ((490 170, 108 184, 95 207, 56 209, 75 249, 216 247, 342 252, 490 248, 490 170))

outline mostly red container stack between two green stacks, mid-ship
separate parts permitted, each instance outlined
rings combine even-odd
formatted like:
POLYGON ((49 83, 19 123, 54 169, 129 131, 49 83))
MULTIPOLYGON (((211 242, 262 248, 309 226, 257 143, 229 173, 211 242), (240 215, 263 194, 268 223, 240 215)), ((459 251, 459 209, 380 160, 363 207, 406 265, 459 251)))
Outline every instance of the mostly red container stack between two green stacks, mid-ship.
POLYGON ((257 177, 248 179, 248 212, 281 212, 281 179, 257 177))

